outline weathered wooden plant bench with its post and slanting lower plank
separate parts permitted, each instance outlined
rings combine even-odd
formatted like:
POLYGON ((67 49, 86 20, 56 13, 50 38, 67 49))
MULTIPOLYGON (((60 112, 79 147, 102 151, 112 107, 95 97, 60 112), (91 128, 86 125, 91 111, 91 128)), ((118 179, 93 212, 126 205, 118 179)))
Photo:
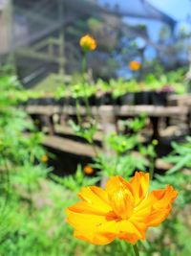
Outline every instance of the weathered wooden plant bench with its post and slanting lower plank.
MULTIPOLYGON (((37 119, 39 128, 46 128, 43 145, 58 151, 67 151, 69 153, 95 157, 96 152, 104 151, 105 154, 111 155, 115 152, 108 147, 104 140, 104 135, 113 131, 117 131, 117 120, 128 119, 129 117, 139 116, 145 113, 153 125, 153 138, 159 140, 159 119, 160 118, 180 118, 188 126, 191 134, 190 113, 191 101, 190 95, 186 96, 170 96, 168 106, 155 105, 101 105, 91 107, 91 116, 98 121, 99 130, 96 132, 94 139, 99 147, 96 150, 83 141, 75 140, 74 131, 65 122, 67 119, 76 120, 76 107, 72 105, 27 105, 27 112, 32 118, 37 119), (54 122, 54 117, 60 120, 60 124, 54 122), (46 121, 46 125, 42 120, 46 121)), ((87 110, 85 106, 79 107, 79 112, 82 120, 87 118, 87 110)), ((181 124, 181 123, 180 123, 181 124)), ((145 138, 144 138, 145 140, 145 138)), ((138 153, 138 152, 136 152, 138 153)), ((172 166, 166 164, 162 159, 158 158, 155 161, 155 167, 159 170, 166 171, 172 166)), ((101 185, 104 186, 107 177, 102 177, 101 185)))

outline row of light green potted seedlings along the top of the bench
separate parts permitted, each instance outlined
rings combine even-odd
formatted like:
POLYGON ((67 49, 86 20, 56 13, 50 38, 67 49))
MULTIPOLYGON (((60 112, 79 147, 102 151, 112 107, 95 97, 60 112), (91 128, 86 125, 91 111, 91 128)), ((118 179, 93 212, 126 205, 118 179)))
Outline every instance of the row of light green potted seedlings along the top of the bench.
MULTIPOLYGON (((137 93, 141 91, 166 91, 184 94, 186 92, 186 84, 184 82, 185 70, 183 68, 176 71, 169 71, 161 74, 148 74, 142 80, 135 79, 124 80, 122 78, 110 79, 103 81, 97 79, 95 82, 88 78, 89 74, 85 74, 86 81, 83 76, 71 79, 71 86, 64 83, 64 78, 59 75, 53 75, 48 81, 44 81, 44 85, 35 86, 32 91, 20 94, 23 100, 27 98, 40 98, 42 96, 52 96, 55 99, 73 97, 81 99, 85 96, 99 96, 104 93, 111 93, 114 99, 127 93, 137 93), (51 86, 49 85, 51 82, 51 86), (85 88, 85 89, 84 89, 85 88), (27 98, 26 98, 27 97, 27 98)), ((18 94, 18 92, 16 92, 18 94)))

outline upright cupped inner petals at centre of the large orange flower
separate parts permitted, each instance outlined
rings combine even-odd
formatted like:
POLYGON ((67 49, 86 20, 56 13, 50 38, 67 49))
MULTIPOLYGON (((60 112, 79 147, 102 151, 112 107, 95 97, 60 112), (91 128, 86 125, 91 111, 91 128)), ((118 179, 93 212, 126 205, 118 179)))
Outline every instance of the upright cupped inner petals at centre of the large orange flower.
POLYGON ((134 208, 134 200, 131 193, 124 186, 120 186, 109 195, 109 199, 117 217, 122 220, 129 219, 134 208))

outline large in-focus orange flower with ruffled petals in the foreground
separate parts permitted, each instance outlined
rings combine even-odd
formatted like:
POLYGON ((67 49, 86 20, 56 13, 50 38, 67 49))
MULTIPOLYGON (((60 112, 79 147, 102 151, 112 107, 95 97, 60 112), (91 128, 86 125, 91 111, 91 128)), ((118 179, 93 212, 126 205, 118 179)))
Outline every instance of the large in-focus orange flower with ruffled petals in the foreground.
POLYGON ((136 173, 126 181, 111 177, 106 188, 84 187, 81 201, 67 209, 74 237, 92 244, 110 244, 116 238, 131 244, 145 239, 150 226, 164 221, 178 192, 170 185, 148 192, 149 175, 136 173))

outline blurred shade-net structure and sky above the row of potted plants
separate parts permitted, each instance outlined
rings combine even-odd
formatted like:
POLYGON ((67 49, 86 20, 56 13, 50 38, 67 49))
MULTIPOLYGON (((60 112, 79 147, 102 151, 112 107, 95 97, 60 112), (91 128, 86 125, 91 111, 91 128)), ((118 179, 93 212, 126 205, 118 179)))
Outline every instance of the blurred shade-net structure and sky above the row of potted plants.
POLYGON ((189 0, 1 0, 0 61, 10 58, 27 87, 53 73, 67 81, 81 71, 78 41, 89 33, 98 45, 96 58, 88 56, 94 77, 129 79, 132 59, 144 74, 156 62, 188 66, 190 23, 189 0))

